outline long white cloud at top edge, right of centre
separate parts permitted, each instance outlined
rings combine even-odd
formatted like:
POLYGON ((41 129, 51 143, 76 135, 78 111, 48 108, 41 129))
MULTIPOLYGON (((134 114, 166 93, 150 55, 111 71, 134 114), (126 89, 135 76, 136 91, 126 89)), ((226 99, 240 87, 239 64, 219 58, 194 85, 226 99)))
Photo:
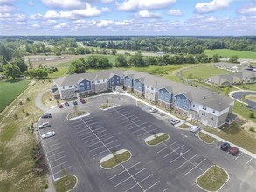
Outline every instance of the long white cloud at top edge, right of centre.
POLYGON ((117 10, 135 11, 135 10, 157 10, 164 9, 176 0, 125 0, 123 3, 116 3, 117 10))

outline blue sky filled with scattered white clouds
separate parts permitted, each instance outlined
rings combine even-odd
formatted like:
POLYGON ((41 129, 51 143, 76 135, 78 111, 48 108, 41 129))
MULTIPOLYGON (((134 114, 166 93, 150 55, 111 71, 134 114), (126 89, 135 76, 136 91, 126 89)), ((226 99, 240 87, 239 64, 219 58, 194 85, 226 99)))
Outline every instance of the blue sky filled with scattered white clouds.
POLYGON ((256 0, 0 0, 0 35, 256 35, 256 0))

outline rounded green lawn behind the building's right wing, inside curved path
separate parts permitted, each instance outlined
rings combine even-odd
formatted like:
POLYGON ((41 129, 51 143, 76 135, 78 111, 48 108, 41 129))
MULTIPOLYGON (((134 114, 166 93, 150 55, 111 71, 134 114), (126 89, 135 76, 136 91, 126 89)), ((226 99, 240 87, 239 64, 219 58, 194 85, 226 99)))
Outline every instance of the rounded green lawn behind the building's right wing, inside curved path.
POLYGON ((186 71, 183 71, 183 77, 185 79, 189 79, 190 76, 192 79, 195 79, 195 78, 206 79, 211 76, 223 75, 227 73, 228 73, 227 71, 218 69, 213 65, 203 65, 203 66, 196 66, 186 71))

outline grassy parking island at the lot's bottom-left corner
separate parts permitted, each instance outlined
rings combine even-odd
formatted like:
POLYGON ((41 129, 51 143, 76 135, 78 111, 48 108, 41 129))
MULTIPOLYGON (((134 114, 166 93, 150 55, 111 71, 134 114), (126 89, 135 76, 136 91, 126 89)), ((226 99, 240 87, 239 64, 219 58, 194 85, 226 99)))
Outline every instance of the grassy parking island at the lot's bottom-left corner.
POLYGON ((75 188, 78 180, 74 175, 66 175, 54 182, 56 192, 67 192, 75 188))

